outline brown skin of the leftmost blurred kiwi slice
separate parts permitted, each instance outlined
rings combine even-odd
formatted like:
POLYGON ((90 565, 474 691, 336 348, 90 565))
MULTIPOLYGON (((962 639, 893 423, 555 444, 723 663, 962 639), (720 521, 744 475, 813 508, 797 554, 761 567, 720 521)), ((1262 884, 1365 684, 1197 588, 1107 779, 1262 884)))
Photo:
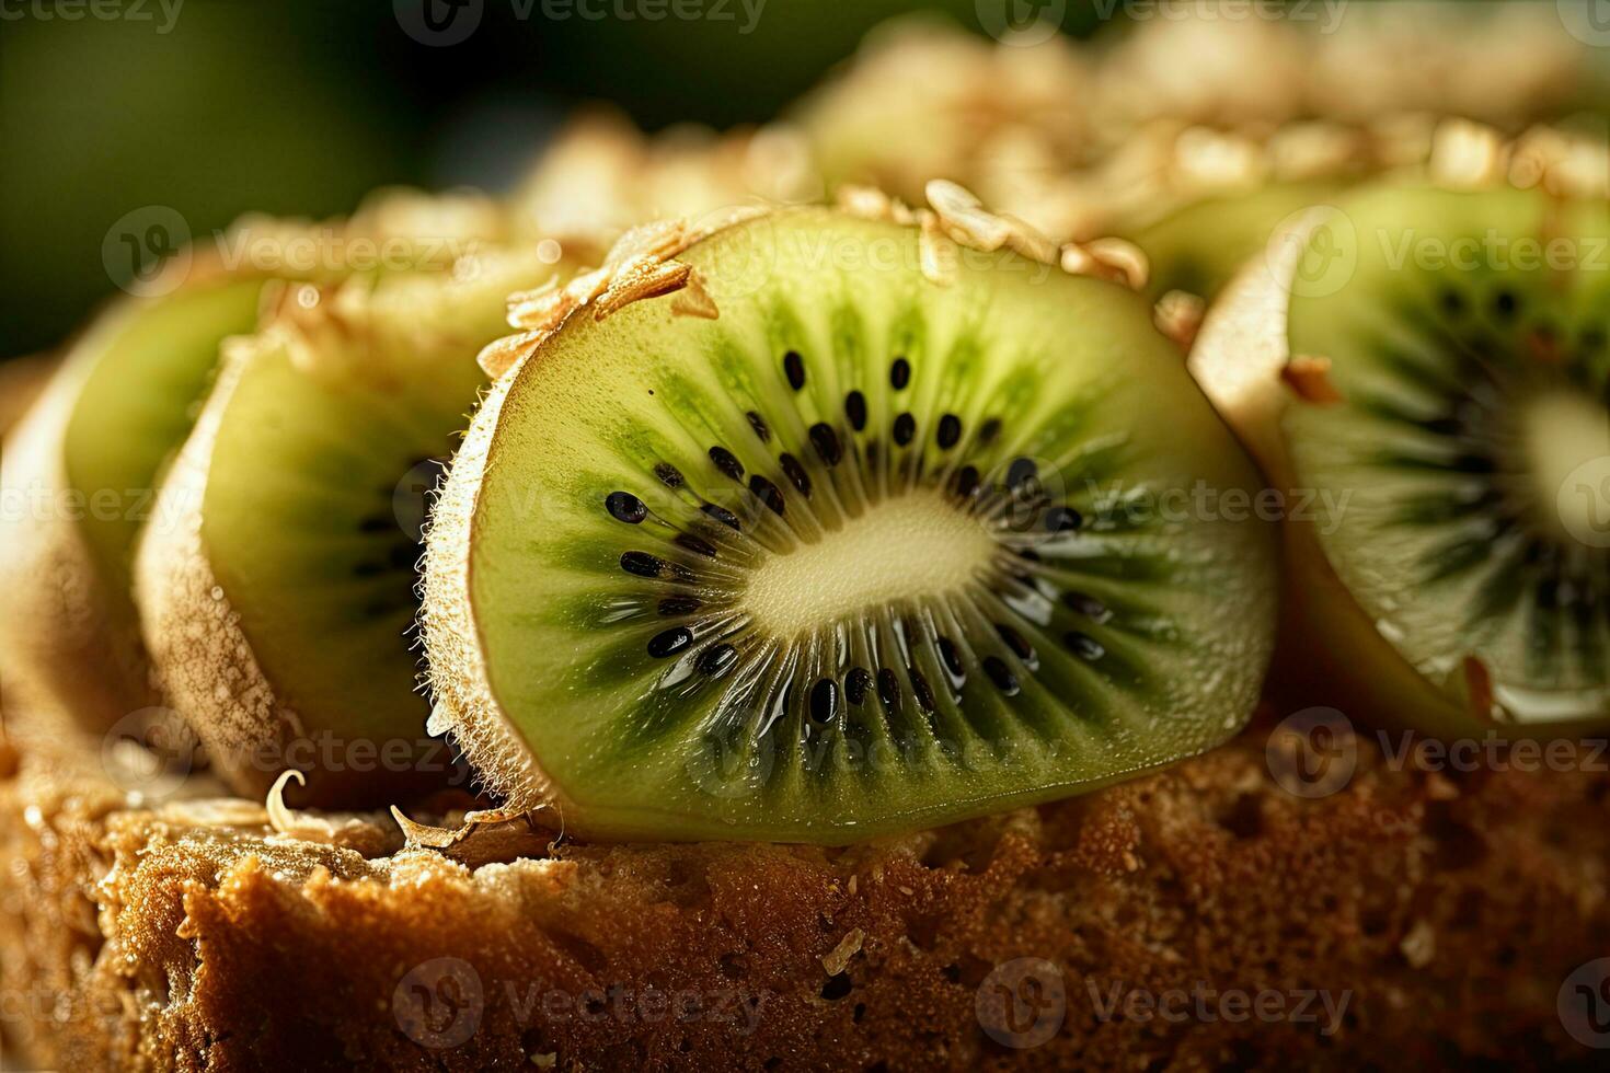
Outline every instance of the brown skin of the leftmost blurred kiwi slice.
POLYGON ((24 484, 71 487, 60 450, 90 365, 69 364, 11 430, 0 462, 3 484, 21 494, 0 553, 0 674, 6 692, 89 730, 105 730, 158 703, 138 624, 126 621, 60 497, 35 499, 24 484))

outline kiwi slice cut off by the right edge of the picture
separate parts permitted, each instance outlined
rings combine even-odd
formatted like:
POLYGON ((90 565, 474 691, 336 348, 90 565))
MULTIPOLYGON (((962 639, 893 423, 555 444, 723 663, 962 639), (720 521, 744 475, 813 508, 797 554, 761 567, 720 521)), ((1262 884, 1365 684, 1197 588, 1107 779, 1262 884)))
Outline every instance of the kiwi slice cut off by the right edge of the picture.
POLYGON ((1602 199, 1373 187, 1204 327, 1195 372, 1306 512, 1294 635, 1383 719, 1610 716, 1607 241, 1602 199))

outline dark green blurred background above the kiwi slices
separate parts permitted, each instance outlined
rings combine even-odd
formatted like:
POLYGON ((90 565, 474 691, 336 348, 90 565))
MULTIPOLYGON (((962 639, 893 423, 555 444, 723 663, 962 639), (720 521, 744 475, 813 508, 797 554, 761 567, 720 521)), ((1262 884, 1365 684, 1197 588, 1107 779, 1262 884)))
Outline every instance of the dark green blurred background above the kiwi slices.
MULTIPOLYGON (((763 121, 892 14, 979 18, 976 0, 696 0, 710 18, 660 21, 620 0, 586 0, 604 18, 430 2, 478 10, 475 31, 420 43, 420 0, 0 0, 0 357, 55 346, 114 293, 101 241, 134 209, 204 233, 248 209, 346 212, 391 183, 501 188, 578 101, 650 129, 763 121)), ((1095 0, 1063 16, 1096 21, 1095 0)))

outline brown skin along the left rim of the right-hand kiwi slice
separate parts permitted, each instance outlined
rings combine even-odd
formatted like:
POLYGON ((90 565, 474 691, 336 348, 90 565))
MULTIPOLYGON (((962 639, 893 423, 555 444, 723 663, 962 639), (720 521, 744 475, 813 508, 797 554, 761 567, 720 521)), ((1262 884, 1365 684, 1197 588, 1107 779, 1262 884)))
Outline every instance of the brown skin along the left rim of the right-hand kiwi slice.
MULTIPOLYGON (((1280 418, 1288 407, 1312 405, 1285 378, 1291 360, 1286 315, 1307 240, 1327 219, 1325 208, 1314 209, 1270 241, 1267 257, 1243 265, 1209 310, 1188 359, 1191 375, 1285 502, 1301 502, 1301 489, 1280 418)), ((1312 518, 1282 523, 1282 560, 1270 692, 1293 706, 1331 705, 1367 724, 1441 738, 1562 732, 1497 722, 1422 676, 1343 584, 1312 518)))

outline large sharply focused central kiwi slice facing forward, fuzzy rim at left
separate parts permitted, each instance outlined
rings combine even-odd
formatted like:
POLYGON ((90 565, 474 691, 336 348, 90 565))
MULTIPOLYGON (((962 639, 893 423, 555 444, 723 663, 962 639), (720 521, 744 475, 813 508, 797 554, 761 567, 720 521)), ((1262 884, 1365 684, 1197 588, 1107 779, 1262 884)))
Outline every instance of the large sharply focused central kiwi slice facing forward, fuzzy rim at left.
POLYGON ((494 384, 428 539, 425 640, 494 791, 604 838, 845 843, 1088 790, 1233 734, 1272 532, 1116 285, 781 212, 494 384), (823 261, 823 251, 832 259, 823 261))

